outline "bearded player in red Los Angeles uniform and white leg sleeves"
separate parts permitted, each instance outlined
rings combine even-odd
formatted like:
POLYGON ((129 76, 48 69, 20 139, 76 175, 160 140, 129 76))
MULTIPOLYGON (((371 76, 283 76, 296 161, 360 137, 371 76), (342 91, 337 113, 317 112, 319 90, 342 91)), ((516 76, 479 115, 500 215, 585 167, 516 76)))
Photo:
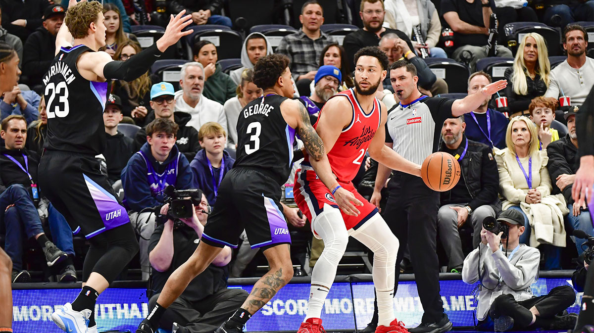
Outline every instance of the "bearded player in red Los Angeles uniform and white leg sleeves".
POLYGON ((387 109, 374 94, 386 78, 387 56, 378 47, 364 47, 355 54, 355 64, 355 89, 328 100, 314 126, 327 147, 335 178, 324 179, 317 175, 307 156, 295 178, 294 193, 299 210, 311 221, 314 235, 324 240, 324 251, 311 274, 307 316, 298 333, 323 332, 321 310, 349 235, 374 252, 373 281, 380 309, 375 332, 407 332, 404 324, 394 319, 392 307, 398 239, 377 208, 356 191, 351 181, 367 151, 374 160, 411 175, 420 176, 421 166, 384 145, 387 109), (344 208, 341 214, 336 202, 342 202, 349 192, 358 201, 344 208))

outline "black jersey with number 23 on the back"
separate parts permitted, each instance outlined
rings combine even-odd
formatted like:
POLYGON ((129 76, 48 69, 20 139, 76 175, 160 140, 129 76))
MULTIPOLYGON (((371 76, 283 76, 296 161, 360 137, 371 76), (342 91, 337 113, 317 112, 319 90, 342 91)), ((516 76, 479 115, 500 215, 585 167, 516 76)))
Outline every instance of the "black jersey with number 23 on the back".
POLYGON ((108 83, 83 78, 76 63, 89 47, 61 47, 43 77, 48 113, 49 150, 97 155, 105 150, 103 110, 108 83))

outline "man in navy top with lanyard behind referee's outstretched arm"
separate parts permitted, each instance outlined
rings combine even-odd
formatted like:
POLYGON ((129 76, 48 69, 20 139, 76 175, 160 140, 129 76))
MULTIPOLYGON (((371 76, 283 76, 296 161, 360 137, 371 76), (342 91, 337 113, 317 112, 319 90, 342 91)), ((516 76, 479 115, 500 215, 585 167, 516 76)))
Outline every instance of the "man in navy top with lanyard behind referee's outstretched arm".
MULTIPOLYGON (((468 94, 474 94, 492 82, 491 75, 475 72, 468 78, 468 94)), ((509 81, 508 81, 509 82, 509 81)), ((509 120, 503 113, 489 107, 485 100, 478 109, 464 115, 466 136, 489 147, 505 148, 505 131, 509 120)))

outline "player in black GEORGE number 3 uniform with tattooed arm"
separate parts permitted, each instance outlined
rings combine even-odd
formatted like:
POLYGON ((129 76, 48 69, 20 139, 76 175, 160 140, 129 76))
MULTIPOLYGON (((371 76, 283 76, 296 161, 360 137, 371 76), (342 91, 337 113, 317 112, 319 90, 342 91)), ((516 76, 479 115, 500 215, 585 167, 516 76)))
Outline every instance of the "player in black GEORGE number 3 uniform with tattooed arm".
MULTIPOLYGON (((210 265, 223 246, 237 247, 244 228, 252 248, 263 249, 270 271, 258 280, 242 307, 217 333, 242 332, 248 319, 293 276, 289 230, 279 200, 280 186, 292 166, 295 133, 304 141, 321 178, 332 178, 330 164, 323 142, 309 123, 307 110, 290 99, 295 91, 289 58, 277 54, 260 58, 254 66, 254 83, 264 90, 264 97, 248 103, 239 114, 237 159, 220 185, 200 245, 169 277, 137 333, 155 332, 165 308, 210 265)), ((340 200, 339 206, 354 208, 350 201, 356 201, 352 194, 340 200)))

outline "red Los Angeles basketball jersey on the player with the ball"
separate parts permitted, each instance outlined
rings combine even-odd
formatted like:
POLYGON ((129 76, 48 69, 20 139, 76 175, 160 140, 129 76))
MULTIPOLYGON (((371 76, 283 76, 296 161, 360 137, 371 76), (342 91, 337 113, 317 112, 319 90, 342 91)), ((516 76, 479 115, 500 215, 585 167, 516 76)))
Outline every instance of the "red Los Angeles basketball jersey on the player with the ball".
MULTIPOLYGON (((369 142, 380 126, 381 107, 380 102, 374 98, 373 107, 369 114, 366 114, 355 97, 355 88, 341 91, 331 98, 340 96, 349 100, 353 110, 353 118, 345 129, 342 130, 336 143, 328 153, 328 160, 334 175, 342 182, 350 182, 359 172, 369 142)), ((320 111, 320 118, 324 114, 324 108, 320 111)), ((318 122, 320 121, 318 118, 318 122)), ((314 128, 317 127, 315 123, 314 128)), ((306 157, 305 161, 309 161, 306 157)))

